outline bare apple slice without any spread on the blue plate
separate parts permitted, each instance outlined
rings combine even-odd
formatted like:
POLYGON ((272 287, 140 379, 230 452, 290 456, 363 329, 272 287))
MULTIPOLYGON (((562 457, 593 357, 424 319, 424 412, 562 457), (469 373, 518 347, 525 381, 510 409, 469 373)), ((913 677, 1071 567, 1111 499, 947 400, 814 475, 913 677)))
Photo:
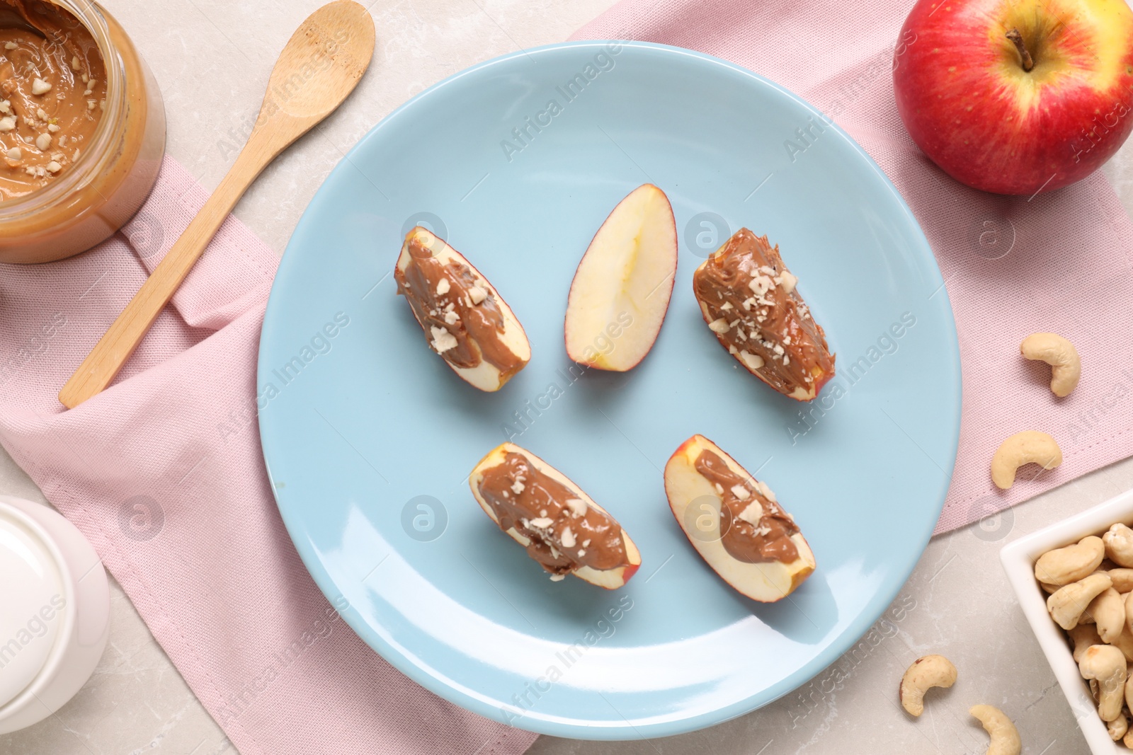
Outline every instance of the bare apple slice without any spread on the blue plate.
POLYGON ((676 221, 651 183, 617 203, 578 264, 566 299, 566 354, 624 372, 645 359, 676 277, 676 221))

